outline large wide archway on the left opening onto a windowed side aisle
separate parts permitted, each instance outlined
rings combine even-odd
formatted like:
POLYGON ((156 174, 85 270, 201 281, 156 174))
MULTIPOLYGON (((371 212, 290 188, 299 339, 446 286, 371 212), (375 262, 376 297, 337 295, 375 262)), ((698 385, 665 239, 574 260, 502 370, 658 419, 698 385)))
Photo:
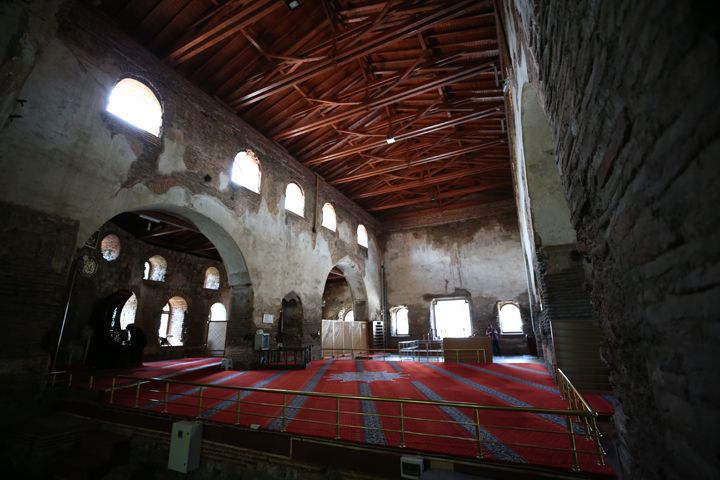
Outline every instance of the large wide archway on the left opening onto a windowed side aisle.
MULTIPOLYGON (((80 343, 78 339, 84 338, 84 325, 88 324, 91 310, 87 305, 97 302, 97 295, 108 280, 108 275, 102 273, 103 269, 111 268, 116 269, 112 274, 113 282, 122 283, 128 290, 138 293, 135 323, 148 335, 148 358, 176 357, 185 355, 187 348, 193 351, 201 349, 207 341, 208 312, 211 304, 218 302, 229 306, 223 334, 235 339, 238 350, 250 348, 242 341, 252 328, 252 285, 247 267, 237 243, 213 218, 189 208, 153 205, 121 212, 96 228, 93 231, 117 233, 121 244, 125 245, 117 259, 109 262, 99 256, 97 241, 81 244, 78 250, 80 275, 71 297, 68 328, 60 348, 76 348, 75 345, 80 343), (133 226, 133 222, 139 227, 133 226), (174 249, 172 245, 160 242, 160 239, 168 240, 173 235, 184 236, 178 237, 176 242, 183 245, 182 248, 174 249), (147 245, 151 247, 146 248, 147 245), (156 246, 160 248, 154 248, 156 246), (192 268, 183 270, 181 266, 186 262, 173 258, 172 251, 179 251, 184 258, 192 255, 200 260, 192 262, 195 264, 192 268), (153 278, 146 272, 148 258, 158 253, 167 260, 167 275, 163 279, 153 278), (218 270, 222 278, 206 285, 205 273, 214 270, 218 270), (198 290, 202 293, 197 293, 198 290), (190 308, 185 310, 183 330, 177 335, 173 333, 174 339, 182 340, 169 342, 176 348, 163 348, 160 338, 168 339, 159 333, 163 307, 166 303, 169 305, 168 299, 174 296, 184 297, 190 308), (235 330, 228 319, 236 321, 235 330)), ((87 231, 87 227, 80 231, 87 231)), ((225 337, 221 342, 211 343, 211 353, 227 353, 225 337)))

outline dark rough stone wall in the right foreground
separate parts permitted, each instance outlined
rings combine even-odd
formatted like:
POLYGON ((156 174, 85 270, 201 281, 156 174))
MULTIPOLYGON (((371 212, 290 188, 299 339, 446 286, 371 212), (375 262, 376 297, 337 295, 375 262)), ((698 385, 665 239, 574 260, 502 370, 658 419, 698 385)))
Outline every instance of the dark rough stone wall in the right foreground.
MULTIPOLYGON (((720 470, 720 46, 712 2, 505 2, 589 262, 629 478, 720 470)), ((517 109, 513 109, 516 112, 517 109)), ((517 137, 516 137, 517 141, 517 137)))

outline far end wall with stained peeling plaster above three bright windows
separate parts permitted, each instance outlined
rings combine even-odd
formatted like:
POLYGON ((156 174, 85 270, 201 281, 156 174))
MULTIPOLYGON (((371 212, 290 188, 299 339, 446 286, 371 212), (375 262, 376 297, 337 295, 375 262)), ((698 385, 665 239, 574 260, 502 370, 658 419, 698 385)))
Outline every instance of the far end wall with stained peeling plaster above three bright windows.
MULTIPOLYGON (((433 298, 469 297, 473 333, 497 319, 497 302, 517 301, 529 325, 527 284, 517 222, 511 209, 448 225, 392 231, 385 239, 388 309, 408 307, 410 339, 430 330, 433 298)), ((389 330, 389 329, 388 329, 389 330)), ((394 346, 397 340, 388 342, 394 346)), ((503 353, 527 353, 524 337, 504 336, 503 353)))

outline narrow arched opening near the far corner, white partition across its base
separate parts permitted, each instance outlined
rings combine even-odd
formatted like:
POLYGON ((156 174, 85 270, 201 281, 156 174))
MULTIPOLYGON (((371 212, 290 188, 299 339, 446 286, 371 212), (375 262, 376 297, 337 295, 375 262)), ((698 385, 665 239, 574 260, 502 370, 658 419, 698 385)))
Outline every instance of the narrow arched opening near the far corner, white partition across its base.
POLYGON ((348 258, 328 273, 322 296, 323 356, 366 353, 368 313, 365 285, 357 265, 348 258))

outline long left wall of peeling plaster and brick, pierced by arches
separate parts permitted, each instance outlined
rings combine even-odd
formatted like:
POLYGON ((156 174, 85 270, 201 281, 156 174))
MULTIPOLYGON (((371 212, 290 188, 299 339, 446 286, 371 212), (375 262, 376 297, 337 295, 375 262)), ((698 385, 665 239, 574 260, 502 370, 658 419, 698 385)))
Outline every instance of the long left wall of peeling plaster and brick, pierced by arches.
MULTIPOLYGON (((0 130, 0 202, 17 225, 30 216, 57 219, 68 228, 53 248, 70 253, 123 211, 156 209, 194 222, 223 257, 230 352, 242 361, 251 356, 247 336, 268 327, 262 314, 277 314, 290 291, 302 301, 306 343, 318 343, 309 334, 320 329, 325 280, 338 263, 356 276, 365 319, 379 316, 378 224, 372 217, 85 7, 35 1, 13 8, 13 18, 26 16, 33 25, 20 27, 19 34, 15 28, 0 33, 9 62, 3 67, 20 62, 23 68, 14 70, 24 75, 13 77, 14 87, 1 97, 19 115, 0 130), (33 55, 20 61, 10 53, 24 44, 34 46, 33 55), (108 94, 125 75, 158 93, 159 140, 104 112, 108 94), (18 98, 25 102, 15 106, 18 98), (259 195, 228 182, 235 154, 247 148, 261 162, 259 195), (305 192, 305 218, 283 207, 289 181, 305 192), (316 226, 316 209, 326 201, 335 207, 340 233, 316 226), (368 249, 349 233, 358 223, 368 230, 368 249)), ((58 267, 59 279, 68 281, 70 260, 58 267)), ((30 256, 28 267, 41 261, 30 256)), ((53 301, 53 308, 62 303, 53 301)), ((56 329, 57 317, 61 312, 55 311, 52 326, 24 332, 24 341, 40 345, 52 337, 48 331, 56 329)), ((52 344, 41 350, 50 354, 52 344)))

